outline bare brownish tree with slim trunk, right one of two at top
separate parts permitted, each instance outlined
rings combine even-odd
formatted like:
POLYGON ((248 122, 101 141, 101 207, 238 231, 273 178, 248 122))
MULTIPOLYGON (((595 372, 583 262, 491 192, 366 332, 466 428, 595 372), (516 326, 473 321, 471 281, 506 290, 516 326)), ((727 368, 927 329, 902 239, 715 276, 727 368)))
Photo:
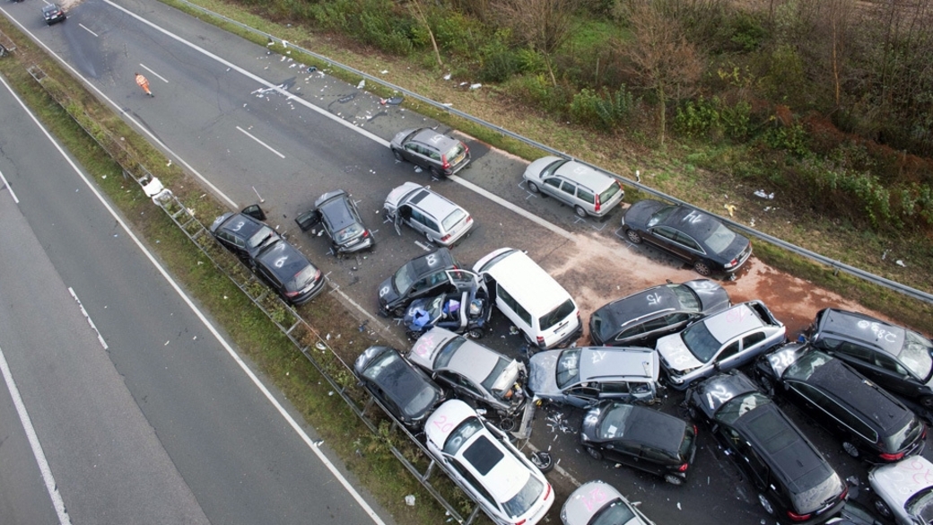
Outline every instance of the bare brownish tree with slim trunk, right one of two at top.
POLYGON ((634 78, 657 95, 661 144, 667 126, 667 101, 693 94, 703 74, 701 53, 687 40, 679 21, 668 14, 666 4, 663 0, 629 0, 624 4, 634 40, 620 45, 621 54, 631 62, 634 78))

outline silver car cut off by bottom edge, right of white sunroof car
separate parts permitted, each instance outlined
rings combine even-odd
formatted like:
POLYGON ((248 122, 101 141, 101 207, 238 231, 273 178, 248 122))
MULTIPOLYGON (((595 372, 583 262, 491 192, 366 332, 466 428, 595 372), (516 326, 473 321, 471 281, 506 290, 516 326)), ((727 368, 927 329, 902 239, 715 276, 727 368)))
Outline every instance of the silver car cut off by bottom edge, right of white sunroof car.
POLYGON ((619 490, 604 481, 580 485, 561 509, 564 525, 654 525, 619 490))

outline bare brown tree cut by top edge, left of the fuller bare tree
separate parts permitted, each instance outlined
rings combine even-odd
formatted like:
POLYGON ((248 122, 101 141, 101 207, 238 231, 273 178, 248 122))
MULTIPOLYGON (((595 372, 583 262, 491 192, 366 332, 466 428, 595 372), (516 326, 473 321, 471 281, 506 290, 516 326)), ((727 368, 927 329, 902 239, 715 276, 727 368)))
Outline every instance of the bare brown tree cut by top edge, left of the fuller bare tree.
POLYGON ((570 36, 576 0, 499 0, 493 5, 499 23, 522 43, 541 53, 556 86, 553 55, 570 36))

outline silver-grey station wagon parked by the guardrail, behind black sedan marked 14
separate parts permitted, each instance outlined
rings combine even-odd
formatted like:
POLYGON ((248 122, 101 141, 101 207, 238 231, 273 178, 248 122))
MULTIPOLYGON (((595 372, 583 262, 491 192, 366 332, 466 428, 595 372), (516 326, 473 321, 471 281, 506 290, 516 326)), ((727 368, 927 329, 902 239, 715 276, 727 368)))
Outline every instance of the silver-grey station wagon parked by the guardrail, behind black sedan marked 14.
POLYGON ((616 177, 560 157, 542 157, 528 164, 522 178, 529 192, 553 197, 582 218, 603 217, 625 197, 616 177))

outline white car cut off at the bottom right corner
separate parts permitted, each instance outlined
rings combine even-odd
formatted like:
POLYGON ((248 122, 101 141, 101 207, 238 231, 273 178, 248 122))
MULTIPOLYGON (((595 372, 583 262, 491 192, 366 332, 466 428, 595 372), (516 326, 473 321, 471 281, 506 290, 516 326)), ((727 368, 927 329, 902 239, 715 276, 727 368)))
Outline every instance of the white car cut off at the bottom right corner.
POLYGON ((878 499, 875 510, 898 525, 923 525, 933 519, 933 463, 911 456, 875 467, 869 473, 878 499))

